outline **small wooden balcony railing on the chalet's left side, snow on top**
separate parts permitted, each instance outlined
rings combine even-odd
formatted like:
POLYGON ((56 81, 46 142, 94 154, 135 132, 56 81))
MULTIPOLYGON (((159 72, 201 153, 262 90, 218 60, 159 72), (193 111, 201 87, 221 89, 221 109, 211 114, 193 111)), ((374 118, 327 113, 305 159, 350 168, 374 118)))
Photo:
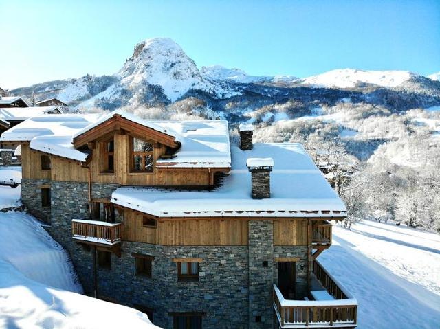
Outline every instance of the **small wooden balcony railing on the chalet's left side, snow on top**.
POLYGON ((89 242, 115 244, 121 239, 121 223, 106 223, 98 220, 72 220, 74 238, 89 242))

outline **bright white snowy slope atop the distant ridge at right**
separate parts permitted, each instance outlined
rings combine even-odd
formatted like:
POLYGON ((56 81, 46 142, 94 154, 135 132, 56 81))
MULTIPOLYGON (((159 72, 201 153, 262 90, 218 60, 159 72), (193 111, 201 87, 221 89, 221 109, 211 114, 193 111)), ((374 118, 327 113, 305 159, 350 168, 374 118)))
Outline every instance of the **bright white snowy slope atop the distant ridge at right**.
POLYGON ((397 87, 417 76, 408 71, 363 71, 359 69, 335 69, 318 76, 302 80, 303 84, 316 87, 353 88, 356 84, 377 84, 382 87, 397 87))

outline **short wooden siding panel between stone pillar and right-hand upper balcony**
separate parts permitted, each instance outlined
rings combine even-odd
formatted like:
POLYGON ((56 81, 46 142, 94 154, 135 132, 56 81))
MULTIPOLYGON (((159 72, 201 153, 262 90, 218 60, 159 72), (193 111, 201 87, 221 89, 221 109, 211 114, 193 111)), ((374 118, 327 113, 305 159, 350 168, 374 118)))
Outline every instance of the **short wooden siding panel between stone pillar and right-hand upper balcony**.
POLYGON ((274 220, 274 245, 307 246, 307 220, 274 220))

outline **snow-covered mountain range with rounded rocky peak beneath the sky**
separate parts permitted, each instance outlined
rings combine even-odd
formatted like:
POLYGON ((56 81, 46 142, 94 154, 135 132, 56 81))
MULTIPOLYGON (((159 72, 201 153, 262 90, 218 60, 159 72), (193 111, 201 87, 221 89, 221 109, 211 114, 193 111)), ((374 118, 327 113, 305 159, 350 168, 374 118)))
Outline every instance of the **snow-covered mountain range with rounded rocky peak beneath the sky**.
MULTIPOLYGON (((192 97, 210 111, 228 118, 243 109, 296 100, 305 107, 342 98, 373 102, 395 111, 435 106, 440 102, 440 82, 407 71, 338 69, 309 78, 251 76, 241 69, 221 65, 201 67, 170 38, 138 43, 133 55, 112 76, 84 76, 43 82, 12 91, 36 100, 58 97, 73 109, 113 110, 161 107, 192 97), (320 88, 316 88, 320 87, 320 88), (227 112, 227 113, 226 113, 227 112)), ((311 107, 310 107, 310 106, 311 107)))

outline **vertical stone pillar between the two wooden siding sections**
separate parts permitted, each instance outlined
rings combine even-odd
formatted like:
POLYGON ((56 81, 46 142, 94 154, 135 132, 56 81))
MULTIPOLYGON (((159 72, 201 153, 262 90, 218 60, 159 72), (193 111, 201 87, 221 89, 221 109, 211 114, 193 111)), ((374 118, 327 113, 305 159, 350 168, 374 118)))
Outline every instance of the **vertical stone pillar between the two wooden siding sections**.
POLYGON ((272 328, 274 223, 249 221, 249 328, 272 328))

